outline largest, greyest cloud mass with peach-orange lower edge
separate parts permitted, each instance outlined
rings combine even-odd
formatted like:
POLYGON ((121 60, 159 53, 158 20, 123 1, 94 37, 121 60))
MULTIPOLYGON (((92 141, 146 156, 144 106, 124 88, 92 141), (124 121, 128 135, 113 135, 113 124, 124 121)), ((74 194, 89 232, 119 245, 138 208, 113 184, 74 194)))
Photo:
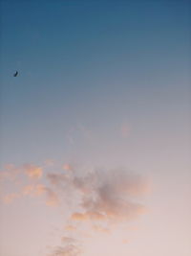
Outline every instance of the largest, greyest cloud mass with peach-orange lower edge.
POLYGON ((80 197, 77 206, 81 210, 72 214, 74 221, 128 221, 144 211, 144 206, 135 198, 145 193, 147 184, 138 175, 124 170, 99 170, 74 175, 63 182, 68 182, 80 197))

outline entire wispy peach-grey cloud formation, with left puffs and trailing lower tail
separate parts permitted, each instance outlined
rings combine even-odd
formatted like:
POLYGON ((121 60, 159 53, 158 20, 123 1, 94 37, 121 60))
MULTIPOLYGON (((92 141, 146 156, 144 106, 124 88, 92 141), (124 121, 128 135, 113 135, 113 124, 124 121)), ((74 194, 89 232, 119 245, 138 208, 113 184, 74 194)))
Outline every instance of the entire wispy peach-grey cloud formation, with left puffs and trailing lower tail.
POLYGON ((125 169, 84 169, 66 163, 59 169, 56 165, 56 171, 50 172, 49 167, 46 170, 25 164, 20 168, 11 166, 3 178, 10 176, 9 172, 14 177, 25 177, 26 184, 21 182, 19 190, 7 193, 4 202, 22 197, 41 198, 48 206, 65 209, 61 245, 53 248, 51 256, 79 255, 81 246, 75 238, 83 233, 83 226, 88 225, 91 232, 109 234, 117 224, 138 218, 145 211, 140 201, 148 190, 147 179, 125 169))

